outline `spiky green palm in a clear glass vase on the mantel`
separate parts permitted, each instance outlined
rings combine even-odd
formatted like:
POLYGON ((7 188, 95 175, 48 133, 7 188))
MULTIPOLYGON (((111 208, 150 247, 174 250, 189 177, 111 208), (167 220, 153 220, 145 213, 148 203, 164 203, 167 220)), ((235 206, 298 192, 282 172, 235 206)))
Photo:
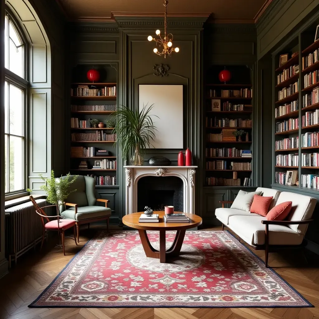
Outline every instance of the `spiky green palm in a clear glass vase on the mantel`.
POLYGON ((119 144, 125 158, 130 150, 133 150, 131 165, 144 164, 145 149, 153 146, 151 141, 155 140, 156 128, 149 114, 153 105, 146 107, 147 105, 143 106, 139 112, 138 109, 130 110, 122 106, 115 113, 116 143, 119 144))

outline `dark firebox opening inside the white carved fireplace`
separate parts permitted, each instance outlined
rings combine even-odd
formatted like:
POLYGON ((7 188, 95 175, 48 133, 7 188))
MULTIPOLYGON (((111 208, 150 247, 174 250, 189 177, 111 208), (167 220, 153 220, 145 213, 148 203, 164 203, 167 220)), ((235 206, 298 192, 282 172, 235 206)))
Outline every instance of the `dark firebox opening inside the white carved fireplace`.
POLYGON ((177 176, 142 177, 137 183, 137 211, 144 211, 145 206, 154 211, 164 211, 164 206, 183 211, 183 181, 177 176))

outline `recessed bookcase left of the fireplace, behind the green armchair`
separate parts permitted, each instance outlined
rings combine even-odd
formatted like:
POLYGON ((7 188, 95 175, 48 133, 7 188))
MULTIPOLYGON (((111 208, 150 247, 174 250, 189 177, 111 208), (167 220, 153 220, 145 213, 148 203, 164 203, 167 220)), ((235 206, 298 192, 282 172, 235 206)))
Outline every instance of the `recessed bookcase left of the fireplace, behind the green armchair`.
POLYGON ((70 87, 70 172, 95 178, 96 187, 112 187, 117 182, 117 150, 114 145, 114 120, 117 109, 117 72, 108 65, 96 68, 100 72, 97 83, 88 83, 86 72, 92 66, 78 65, 73 70, 70 87), (93 127, 90 120, 105 125, 93 127), (109 123, 108 123, 109 124, 109 123), (108 151, 98 156, 98 151, 108 151), (101 168, 96 168, 100 161, 101 168))

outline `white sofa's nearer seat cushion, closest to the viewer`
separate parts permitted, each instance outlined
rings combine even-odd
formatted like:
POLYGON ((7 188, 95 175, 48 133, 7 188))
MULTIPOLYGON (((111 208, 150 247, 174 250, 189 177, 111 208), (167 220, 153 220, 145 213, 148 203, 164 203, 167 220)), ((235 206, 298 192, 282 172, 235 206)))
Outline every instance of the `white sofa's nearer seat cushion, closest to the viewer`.
MULTIPOLYGON (((239 237, 249 245, 265 244, 265 225, 261 223, 265 217, 257 215, 251 216, 230 216, 229 227, 239 237)), ((282 225, 269 225, 269 244, 270 245, 300 245, 303 234, 296 233, 293 229, 282 225)))

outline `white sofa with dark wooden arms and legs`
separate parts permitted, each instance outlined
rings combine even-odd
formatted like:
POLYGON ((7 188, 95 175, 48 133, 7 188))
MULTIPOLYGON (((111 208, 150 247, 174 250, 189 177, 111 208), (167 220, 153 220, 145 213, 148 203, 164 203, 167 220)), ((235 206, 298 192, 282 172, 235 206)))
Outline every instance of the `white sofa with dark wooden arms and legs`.
POLYGON ((267 221, 266 217, 248 211, 224 208, 230 201, 220 201, 222 208, 215 215, 224 226, 230 228, 242 240, 255 249, 265 249, 265 265, 268 262, 269 248, 272 246, 296 246, 304 239, 317 200, 313 197, 276 189, 258 187, 262 196, 273 197, 269 210, 277 204, 291 201, 292 209, 284 221, 267 221))

